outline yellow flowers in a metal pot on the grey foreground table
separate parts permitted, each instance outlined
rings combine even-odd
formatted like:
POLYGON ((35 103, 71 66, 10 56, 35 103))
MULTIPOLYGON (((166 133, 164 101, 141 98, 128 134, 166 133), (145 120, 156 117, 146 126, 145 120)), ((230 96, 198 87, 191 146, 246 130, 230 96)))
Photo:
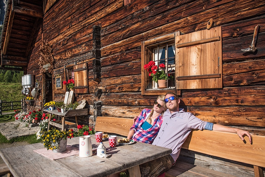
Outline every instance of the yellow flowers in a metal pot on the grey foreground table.
POLYGON ((40 140, 47 150, 52 150, 53 152, 64 152, 67 146, 67 138, 73 137, 72 130, 61 131, 52 128, 48 131, 41 131, 40 140))

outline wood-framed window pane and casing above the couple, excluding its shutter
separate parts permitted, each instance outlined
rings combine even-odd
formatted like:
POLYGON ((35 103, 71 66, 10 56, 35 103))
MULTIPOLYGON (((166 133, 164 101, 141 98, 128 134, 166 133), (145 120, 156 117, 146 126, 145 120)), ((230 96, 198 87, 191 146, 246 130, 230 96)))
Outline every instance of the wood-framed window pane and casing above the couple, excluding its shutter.
POLYGON ((175 92, 175 34, 161 36, 142 42, 142 94, 160 95, 168 91, 175 92), (167 82, 167 88, 159 89, 158 84, 152 81, 143 66, 149 61, 156 65, 165 64, 165 73, 170 74, 173 80, 167 82))

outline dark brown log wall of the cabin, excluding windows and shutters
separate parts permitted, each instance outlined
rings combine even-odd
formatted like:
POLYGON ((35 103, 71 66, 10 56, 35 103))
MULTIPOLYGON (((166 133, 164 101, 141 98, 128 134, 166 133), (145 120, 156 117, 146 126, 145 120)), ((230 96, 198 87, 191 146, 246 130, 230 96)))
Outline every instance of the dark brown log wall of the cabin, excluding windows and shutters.
MULTIPOLYGON (((204 30, 211 18, 213 26, 222 26, 223 88, 182 90, 180 107, 209 122, 265 135, 263 0, 132 0, 128 5, 123 0, 58 0, 34 34, 28 74, 40 78, 38 50, 42 41, 49 42, 55 58, 53 84, 55 76, 64 81, 64 65, 88 63, 89 94, 76 94, 76 100, 86 99, 90 108, 81 122, 94 124, 100 114, 133 118, 151 108, 157 97, 141 95, 141 42, 176 31, 204 30), (251 44, 257 24, 257 50, 244 53, 241 49, 251 44), (100 81, 93 80, 95 25, 101 28, 100 81)), ((65 86, 53 88, 54 100, 62 100, 65 86)))

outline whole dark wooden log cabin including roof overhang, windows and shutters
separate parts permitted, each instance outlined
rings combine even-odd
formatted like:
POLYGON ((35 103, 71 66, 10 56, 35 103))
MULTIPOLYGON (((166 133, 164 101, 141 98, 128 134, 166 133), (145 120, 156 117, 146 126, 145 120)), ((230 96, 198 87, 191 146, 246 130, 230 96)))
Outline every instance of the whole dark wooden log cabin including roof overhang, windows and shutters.
MULTIPOLYGON (((173 91, 180 107, 202 120, 265 135, 264 17, 264 0, 9 0, 1 66, 19 66, 40 81, 41 108, 63 100, 62 81, 74 78, 75 100, 89 108, 80 123, 133 118, 173 91), (254 52, 243 50, 253 45, 254 52), (150 60, 164 63, 173 83, 158 88, 143 68, 150 60)), ((181 155, 253 176, 247 164, 188 150, 181 155)))

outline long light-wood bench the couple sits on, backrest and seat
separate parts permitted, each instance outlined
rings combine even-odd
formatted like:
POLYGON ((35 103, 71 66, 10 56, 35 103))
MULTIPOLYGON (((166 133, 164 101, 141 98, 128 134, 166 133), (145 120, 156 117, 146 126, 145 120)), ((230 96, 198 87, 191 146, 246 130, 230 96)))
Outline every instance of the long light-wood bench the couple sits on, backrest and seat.
MULTIPOLYGON (((97 117, 95 130, 127 136, 131 126, 132 119, 97 117)), ((248 137, 244 138, 245 141, 243 142, 235 133, 193 130, 182 148, 251 164, 254 166, 255 177, 263 177, 262 167, 265 167, 265 136, 252 135, 252 144, 249 143, 248 137)), ((165 176, 223 177, 233 175, 177 160, 176 164, 165 173, 165 176)))

